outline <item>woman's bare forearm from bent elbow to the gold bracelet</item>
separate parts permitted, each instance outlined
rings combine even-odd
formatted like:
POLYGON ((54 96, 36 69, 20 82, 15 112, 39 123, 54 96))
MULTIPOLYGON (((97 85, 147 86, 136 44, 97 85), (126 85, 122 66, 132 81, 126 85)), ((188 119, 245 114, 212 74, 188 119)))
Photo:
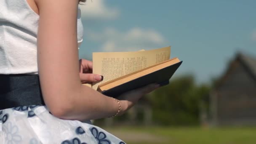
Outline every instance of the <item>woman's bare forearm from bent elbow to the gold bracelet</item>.
POLYGON ((62 119, 93 120, 115 115, 119 109, 117 101, 84 85, 72 97, 71 107, 53 114, 62 119))

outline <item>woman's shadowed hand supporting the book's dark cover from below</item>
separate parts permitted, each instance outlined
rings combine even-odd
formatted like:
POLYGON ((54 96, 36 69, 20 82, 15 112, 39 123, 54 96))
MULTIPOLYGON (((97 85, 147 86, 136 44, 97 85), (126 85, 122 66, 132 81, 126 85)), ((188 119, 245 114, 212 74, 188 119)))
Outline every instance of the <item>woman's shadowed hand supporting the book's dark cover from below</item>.
POLYGON ((159 84, 150 84, 142 88, 128 91, 122 94, 121 96, 117 97, 121 104, 121 110, 118 115, 124 114, 128 109, 130 109, 134 104, 136 104, 142 96, 154 91, 156 88, 159 87, 159 84))

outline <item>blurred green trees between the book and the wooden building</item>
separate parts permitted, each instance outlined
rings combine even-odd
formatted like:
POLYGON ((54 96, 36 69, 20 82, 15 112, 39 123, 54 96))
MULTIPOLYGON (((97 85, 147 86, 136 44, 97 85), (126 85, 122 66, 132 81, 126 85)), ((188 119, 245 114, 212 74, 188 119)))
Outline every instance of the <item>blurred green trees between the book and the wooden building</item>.
MULTIPOLYGON (((150 93, 153 120, 160 125, 194 125, 200 122, 200 102, 208 105, 208 85, 196 85, 192 75, 172 79, 150 93)), ((208 106, 206 106, 208 108, 208 106)))

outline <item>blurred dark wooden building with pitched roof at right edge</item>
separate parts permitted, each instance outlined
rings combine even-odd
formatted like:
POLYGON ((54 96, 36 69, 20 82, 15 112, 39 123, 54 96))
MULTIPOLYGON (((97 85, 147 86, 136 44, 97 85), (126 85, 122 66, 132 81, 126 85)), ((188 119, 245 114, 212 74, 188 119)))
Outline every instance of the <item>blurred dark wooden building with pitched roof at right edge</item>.
POLYGON ((256 125, 256 57, 237 53, 210 93, 215 125, 256 125))

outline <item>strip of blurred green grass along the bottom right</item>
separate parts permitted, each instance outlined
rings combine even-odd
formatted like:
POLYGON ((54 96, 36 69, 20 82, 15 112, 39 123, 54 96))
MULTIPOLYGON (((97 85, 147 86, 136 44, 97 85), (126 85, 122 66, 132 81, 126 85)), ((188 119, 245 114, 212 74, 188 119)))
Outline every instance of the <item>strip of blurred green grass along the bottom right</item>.
MULTIPOLYGON (((159 140, 157 144, 256 144, 256 127, 225 127, 225 128, 199 128, 199 127, 118 127, 106 128, 128 144, 155 144, 155 141, 138 141, 136 138, 127 138, 125 133, 135 135, 148 134, 159 140), (120 135, 120 132, 123 134, 120 135), (132 139, 132 140, 131 140, 132 139), (129 141, 130 140, 130 141, 129 141)), ((128 135, 128 134, 127 134, 128 135)))

